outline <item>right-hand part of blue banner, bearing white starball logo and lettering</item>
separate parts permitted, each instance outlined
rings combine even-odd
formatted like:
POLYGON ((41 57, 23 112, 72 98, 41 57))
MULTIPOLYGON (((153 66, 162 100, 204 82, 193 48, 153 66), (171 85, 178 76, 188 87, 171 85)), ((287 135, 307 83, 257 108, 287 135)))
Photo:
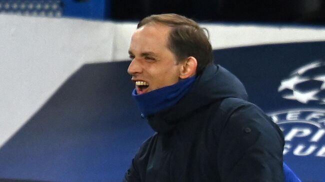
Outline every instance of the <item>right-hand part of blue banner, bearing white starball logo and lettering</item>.
POLYGON ((325 180, 325 80, 316 79, 325 76, 323 50, 325 42, 214 51, 215 59, 243 82, 248 100, 278 123, 286 142, 284 161, 303 182, 325 180))

